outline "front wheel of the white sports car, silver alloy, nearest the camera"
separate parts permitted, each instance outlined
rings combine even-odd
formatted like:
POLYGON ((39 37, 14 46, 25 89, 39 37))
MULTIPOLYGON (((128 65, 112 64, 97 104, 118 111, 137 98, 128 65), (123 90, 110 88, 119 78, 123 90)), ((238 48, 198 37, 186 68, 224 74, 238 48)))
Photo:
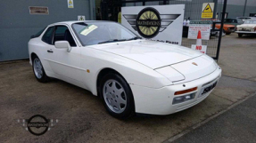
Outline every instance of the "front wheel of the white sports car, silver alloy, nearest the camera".
POLYGON ((125 79, 118 74, 103 76, 100 83, 100 96, 108 113, 119 119, 135 115, 132 91, 125 79))

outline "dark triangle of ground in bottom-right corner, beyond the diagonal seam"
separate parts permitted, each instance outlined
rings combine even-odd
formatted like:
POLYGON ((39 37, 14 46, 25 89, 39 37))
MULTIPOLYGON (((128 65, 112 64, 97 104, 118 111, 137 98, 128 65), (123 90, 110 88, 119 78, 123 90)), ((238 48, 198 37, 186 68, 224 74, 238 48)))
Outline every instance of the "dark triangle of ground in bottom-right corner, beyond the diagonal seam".
POLYGON ((255 143, 255 102, 256 96, 254 95, 224 114, 217 116, 214 120, 176 139, 174 143, 255 143))

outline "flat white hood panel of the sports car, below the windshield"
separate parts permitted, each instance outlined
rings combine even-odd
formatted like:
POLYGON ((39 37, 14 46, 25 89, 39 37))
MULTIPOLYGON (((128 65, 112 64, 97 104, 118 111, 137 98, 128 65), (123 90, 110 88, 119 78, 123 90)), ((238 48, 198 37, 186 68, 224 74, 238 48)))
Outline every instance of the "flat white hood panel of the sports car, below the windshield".
POLYGON ((120 55, 129 60, 135 60, 153 69, 202 56, 201 52, 196 52, 186 47, 150 40, 98 44, 93 47, 104 52, 120 55))

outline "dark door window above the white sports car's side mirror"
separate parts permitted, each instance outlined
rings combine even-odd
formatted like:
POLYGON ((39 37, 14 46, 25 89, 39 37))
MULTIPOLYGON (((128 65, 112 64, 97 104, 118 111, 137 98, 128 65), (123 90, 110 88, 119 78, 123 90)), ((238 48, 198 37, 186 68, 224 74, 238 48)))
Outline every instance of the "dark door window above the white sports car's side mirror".
POLYGON ((54 33, 54 43, 56 41, 68 41, 71 47, 77 46, 72 35, 70 34, 69 28, 65 26, 57 26, 54 33))

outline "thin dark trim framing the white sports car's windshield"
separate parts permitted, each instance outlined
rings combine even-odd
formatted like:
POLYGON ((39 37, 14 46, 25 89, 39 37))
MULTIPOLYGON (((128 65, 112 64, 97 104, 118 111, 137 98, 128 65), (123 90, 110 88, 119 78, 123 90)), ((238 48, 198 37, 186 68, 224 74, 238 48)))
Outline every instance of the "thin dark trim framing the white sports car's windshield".
MULTIPOLYGON (((91 45, 87 45, 87 44, 84 44, 83 42, 82 42, 82 40, 80 39, 80 37, 78 36, 78 33, 76 32, 76 30, 75 30, 75 28, 74 28, 74 25, 75 24, 78 24, 78 23, 83 23, 83 24, 88 24, 88 23, 95 23, 95 22, 97 22, 97 23, 101 23, 101 22, 109 22, 109 23, 116 23, 116 24, 119 24, 120 26, 122 26, 122 27, 124 27, 123 25, 121 25, 120 23, 118 23, 118 22, 114 22, 114 21, 104 21, 104 20, 95 20, 95 21, 87 21, 87 22, 76 22, 76 23, 72 23, 71 24, 71 28, 72 28, 72 30, 74 31, 74 33, 75 33, 75 35, 78 37, 78 40, 79 40, 79 42, 80 42, 80 44, 82 44, 83 46, 91 46, 91 45)), ((126 27, 124 27, 124 28, 126 28, 126 27)), ((136 35, 136 33, 134 33, 133 31, 131 31, 130 29, 128 29, 128 28, 126 28, 129 32, 131 32, 132 34, 134 34, 135 36, 134 37, 140 37, 140 36, 137 36, 136 35)), ((124 42, 124 41, 120 41, 120 42, 124 42)), ((107 44, 107 43, 105 43, 105 44, 107 44)), ((97 45, 97 44, 92 44, 92 45, 97 45)))

